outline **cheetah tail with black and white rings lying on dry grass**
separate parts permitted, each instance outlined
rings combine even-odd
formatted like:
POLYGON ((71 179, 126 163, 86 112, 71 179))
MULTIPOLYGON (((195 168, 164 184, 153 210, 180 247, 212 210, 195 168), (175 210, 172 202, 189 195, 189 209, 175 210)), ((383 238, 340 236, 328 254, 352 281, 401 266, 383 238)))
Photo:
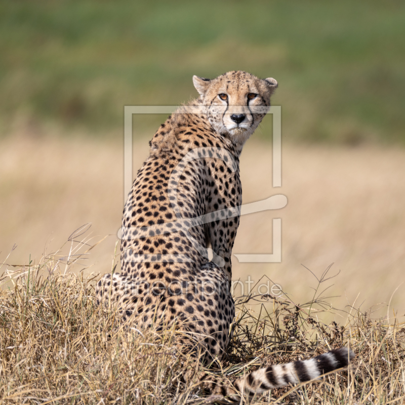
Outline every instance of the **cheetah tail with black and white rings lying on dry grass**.
MULTIPOLYGON (((273 388, 318 379, 323 374, 347 366, 354 356, 350 348, 341 347, 309 360, 292 361, 253 371, 246 376, 237 378, 232 384, 240 393, 245 395, 263 393, 273 388)), ((225 389, 223 386, 217 386, 213 391, 232 400, 240 399, 236 391, 225 389)))

